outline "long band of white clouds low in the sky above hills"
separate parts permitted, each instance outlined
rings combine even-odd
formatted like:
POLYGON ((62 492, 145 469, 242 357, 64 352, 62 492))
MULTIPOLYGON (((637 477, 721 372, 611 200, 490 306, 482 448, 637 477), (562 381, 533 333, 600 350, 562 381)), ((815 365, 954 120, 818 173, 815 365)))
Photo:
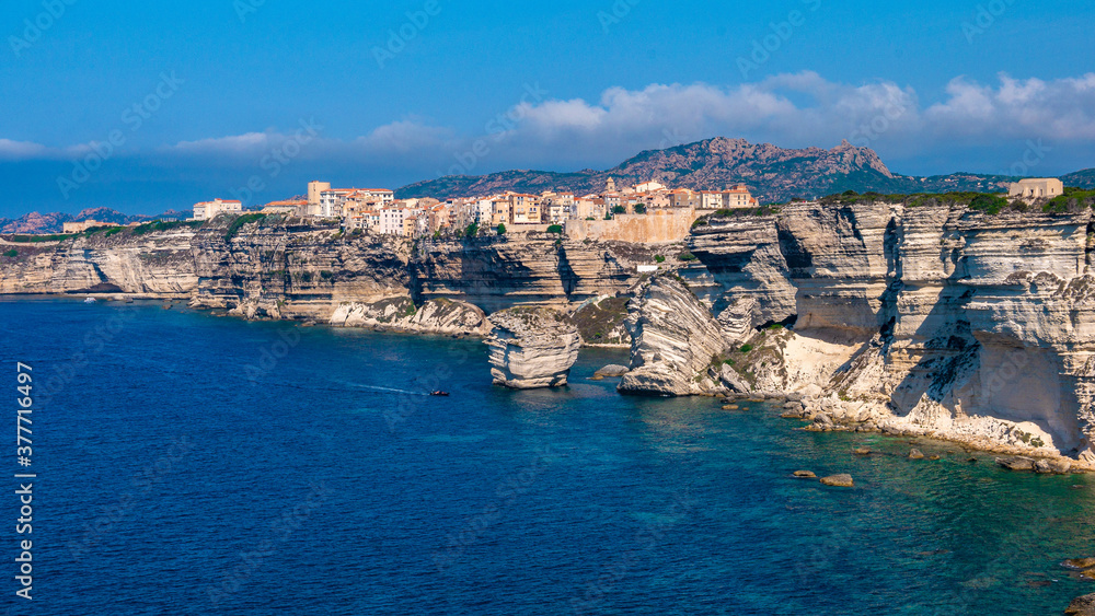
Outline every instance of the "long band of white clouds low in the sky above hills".
MULTIPOLYGON (((884 159, 950 160, 956 168, 983 168, 998 161, 977 163, 975 155, 983 155, 975 154, 977 149, 996 148, 1014 158, 1017 141, 1045 139, 1070 146, 1060 152, 1074 152, 1067 154, 1073 160, 1061 164, 1091 166, 1082 159, 1095 149, 1095 73, 1056 80, 1001 73, 992 84, 958 77, 929 97, 937 102, 925 105, 921 94, 894 81, 846 84, 811 71, 735 86, 655 83, 636 90, 609 88, 596 102, 521 103, 505 114, 512 123, 506 123, 504 131, 489 133, 484 129, 482 135, 460 135, 418 117, 357 138, 320 131, 295 158, 430 177, 454 162, 476 174, 607 166, 641 150, 726 136, 784 147, 831 148, 848 139, 879 150, 884 159), (963 151, 975 164, 961 162, 963 151)), ((254 166, 272 151, 299 141, 298 128, 182 141, 158 149, 152 158, 254 166)), ((0 161, 66 159, 88 151, 88 144, 48 148, 0 139, 0 161)), ((148 156, 134 150, 117 155, 135 154, 148 156)))

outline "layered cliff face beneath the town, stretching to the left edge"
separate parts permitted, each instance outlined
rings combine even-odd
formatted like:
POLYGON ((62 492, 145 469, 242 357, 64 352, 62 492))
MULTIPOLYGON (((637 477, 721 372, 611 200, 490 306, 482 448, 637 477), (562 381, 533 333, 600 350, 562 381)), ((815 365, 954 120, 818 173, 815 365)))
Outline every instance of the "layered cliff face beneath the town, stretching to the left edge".
MULTIPOLYGON (((0 252, 16 252, 0 256, 0 293, 110 291, 188 300, 247 318, 483 334, 484 310, 525 303, 568 307, 627 293, 638 280, 636 266, 654 263, 655 254, 643 245, 533 233, 412 242, 291 221, 252 222, 231 232, 227 225, 175 224, 62 242, 0 241, 0 252), (391 315, 370 307, 399 298, 429 310, 387 322, 391 315), (456 314, 430 300, 451 300, 462 310, 456 314)), ((613 318, 603 315, 603 334, 619 341, 620 334, 610 330, 613 318)))

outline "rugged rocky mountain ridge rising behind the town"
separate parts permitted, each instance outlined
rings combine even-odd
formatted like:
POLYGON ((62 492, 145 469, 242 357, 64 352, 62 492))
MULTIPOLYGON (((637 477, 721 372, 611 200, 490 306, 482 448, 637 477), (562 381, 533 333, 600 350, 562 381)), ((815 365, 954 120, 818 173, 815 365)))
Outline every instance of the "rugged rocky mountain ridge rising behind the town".
MULTIPOLYGON (((899 175, 892 173, 874 150, 856 148, 846 141, 831 150, 795 150, 718 137, 666 150, 648 150, 607 171, 507 171, 482 176, 448 176, 404 186, 396 190, 396 196, 469 197, 505 190, 540 193, 558 188, 593 193, 601 190, 609 177, 623 184, 656 179, 692 189, 745 183, 762 202, 822 197, 844 190, 883 194, 1000 191, 1015 179, 973 173, 931 177, 899 175)), ((1070 186, 1095 184, 1093 170, 1065 177, 1070 186)))

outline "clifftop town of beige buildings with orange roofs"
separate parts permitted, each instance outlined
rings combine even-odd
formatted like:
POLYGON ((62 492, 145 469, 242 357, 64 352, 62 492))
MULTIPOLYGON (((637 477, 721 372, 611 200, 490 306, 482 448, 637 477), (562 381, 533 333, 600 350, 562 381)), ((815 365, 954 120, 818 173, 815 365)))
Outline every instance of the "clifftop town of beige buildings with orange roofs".
MULTIPOLYGON (((546 231, 576 221, 613 220, 627 216, 659 213, 695 217, 721 209, 757 207, 749 188, 739 184, 723 190, 669 188, 658 182, 616 187, 609 178, 599 194, 544 191, 540 195, 506 191, 480 197, 439 200, 395 199, 384 188, 332 188, 328 182, 310 182, 307 196, 274 201, 260 211, 312 220, 338 220, 343 230, 384 235, 420 237, 464 232, 469 226, 515 231, 546 231)), ((210 220, 222 213, 243 211, 238 200, 215 199, 194 206, 194 220, 210 220)))

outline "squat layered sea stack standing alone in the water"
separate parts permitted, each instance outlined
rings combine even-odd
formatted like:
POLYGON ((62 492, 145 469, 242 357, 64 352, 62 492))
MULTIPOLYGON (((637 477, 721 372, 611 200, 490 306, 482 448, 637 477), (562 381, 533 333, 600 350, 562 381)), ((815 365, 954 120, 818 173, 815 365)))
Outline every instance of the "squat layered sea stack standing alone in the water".
POLYGON ((578 328, 552 309, 518 306, 496 312, 486 339, 496 385, 515 390, 566 385, 578 359, 578 328))

